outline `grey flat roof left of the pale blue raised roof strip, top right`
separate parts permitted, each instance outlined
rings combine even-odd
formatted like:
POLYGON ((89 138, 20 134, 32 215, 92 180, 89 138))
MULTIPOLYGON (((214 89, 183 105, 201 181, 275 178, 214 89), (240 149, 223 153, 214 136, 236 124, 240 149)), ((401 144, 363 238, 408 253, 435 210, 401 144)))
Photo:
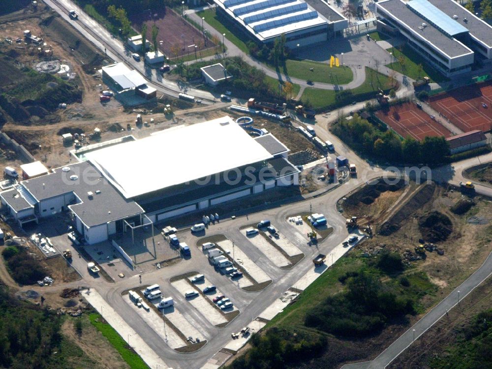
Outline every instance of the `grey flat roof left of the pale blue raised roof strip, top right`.
POLYGON ((414 33, 421 35, 424 39, 428 40, 428 42, 450 57, 453 58, 470 53, 470 50, 460 42, 446 36, 434 26, 427 24, 425 19, 411 11, 404 2, 400 0, 387 0, 377 2, 376 4, 377 7, 386 10, 387 13, 398 18, 401 23, 409 27, 414 33), (427 27, 423 28, 422 23, 426 23, 427 27))

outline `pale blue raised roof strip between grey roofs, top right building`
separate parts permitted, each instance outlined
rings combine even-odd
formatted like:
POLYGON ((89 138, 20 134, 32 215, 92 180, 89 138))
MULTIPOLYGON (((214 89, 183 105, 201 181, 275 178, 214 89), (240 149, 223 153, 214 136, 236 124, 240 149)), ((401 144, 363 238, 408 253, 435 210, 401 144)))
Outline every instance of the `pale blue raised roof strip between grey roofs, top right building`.
POLYGON ((455 36, 468 30, 427 0, 411 0, 406 3, 411 10, 448 36, 455 36))

